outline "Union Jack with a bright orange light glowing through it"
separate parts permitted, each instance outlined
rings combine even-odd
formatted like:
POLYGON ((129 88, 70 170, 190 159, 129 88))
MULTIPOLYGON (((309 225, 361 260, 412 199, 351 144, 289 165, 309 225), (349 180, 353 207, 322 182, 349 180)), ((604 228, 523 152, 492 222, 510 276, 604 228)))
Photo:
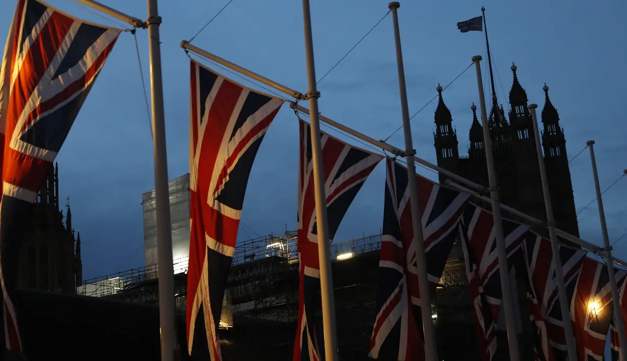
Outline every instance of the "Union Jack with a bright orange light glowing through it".
MULTIPOLYGON (((616 282, 620 284, 627 272, 619 269, 615 269, 615 272, 616 282)), ((592 258, 584 258, 571 304, 573 332, 580 361, 603 361, 613 312, 607 265, 592 258)))

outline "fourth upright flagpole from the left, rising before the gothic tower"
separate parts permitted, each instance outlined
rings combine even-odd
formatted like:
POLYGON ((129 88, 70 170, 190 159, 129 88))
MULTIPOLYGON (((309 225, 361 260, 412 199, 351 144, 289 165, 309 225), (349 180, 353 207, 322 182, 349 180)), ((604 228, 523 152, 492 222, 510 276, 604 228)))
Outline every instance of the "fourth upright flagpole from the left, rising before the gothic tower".
POLYGON ((510 273, 507 264, 507 250, 505 248, 505 239, 503 238, 501 202, 498 196, 497 175, 494 169, 494 160, 492 155, 492 139, 490 138, 490 128, 488 128, 488 115, 485 111, 485 96, 483 96, 483 81, 481 79, 480 64, 481 59, 480 55, 472 57, 472 61, 477 67, 477 85, 479 87, 481 125, 483 128, 483 149, 485 150, 485 159, 488 164, 488 180, 490 181, 490 198, 492 198, 492 215, 494 217, 494 230, 496 233, 498 268, 501 276, 503 307, 505 308, 505 326, 507 327, 510 360, 519 361, 520 350, 518 347, 518 334, 516 333, 516 323, 514 318, 514 302, 512 302, 512 287, 510 285, 510 273))

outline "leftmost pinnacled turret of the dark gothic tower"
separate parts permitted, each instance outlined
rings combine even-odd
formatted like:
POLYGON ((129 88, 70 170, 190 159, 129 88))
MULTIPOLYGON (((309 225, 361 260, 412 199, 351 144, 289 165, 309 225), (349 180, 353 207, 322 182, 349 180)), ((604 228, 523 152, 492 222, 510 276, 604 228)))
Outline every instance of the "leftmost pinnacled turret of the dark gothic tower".
MULTIPOLYGON (((438 165, 446 170, 455 171, 459 160, 459 152, 457 149, 457 133, 453 130, 453 116, 451 111, 446 107, 444 99, 442 99, 442 87, 438 84, 439 101, 438 108, 435 109, 435 126, 433 140, 438 158, 438 165)), ((443 176, 440 176, 443 182, 443 176)))

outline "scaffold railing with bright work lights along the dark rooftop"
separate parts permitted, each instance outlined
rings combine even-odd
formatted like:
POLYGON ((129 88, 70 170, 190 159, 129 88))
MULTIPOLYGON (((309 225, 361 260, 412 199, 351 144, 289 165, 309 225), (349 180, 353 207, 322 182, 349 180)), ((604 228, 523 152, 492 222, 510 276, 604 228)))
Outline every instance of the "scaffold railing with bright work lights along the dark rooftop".
MULTIPOLYGON (((331 246, 331 259, 343 260, 359 253, 381 248, 381 235, 364 236, 331 246)), ((280 235, 253 238, 236 245, 231 267, 253 262, 265 257, 287 258, 289 263, 298 262, 297 231, 286 231, 280 235)), ((187 273, 189 257, 174 260, 174 274, 187 273)), ((132 268, 118 273, 95 277, 83 281, 76 288, 79 295, 102 297, 113 295, 158 277, 158 265, 132 268)))

